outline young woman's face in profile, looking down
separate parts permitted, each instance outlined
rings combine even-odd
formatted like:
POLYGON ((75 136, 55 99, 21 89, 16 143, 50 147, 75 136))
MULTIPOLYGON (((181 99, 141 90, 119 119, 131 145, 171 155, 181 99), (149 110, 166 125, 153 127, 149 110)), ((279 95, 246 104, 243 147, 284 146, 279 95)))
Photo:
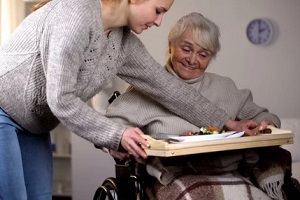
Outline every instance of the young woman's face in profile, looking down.
POLYGON ((140 34, 154 26, 160 26, 163 15, 170 9, 174 0, 131 0, 128 25, 140 34))

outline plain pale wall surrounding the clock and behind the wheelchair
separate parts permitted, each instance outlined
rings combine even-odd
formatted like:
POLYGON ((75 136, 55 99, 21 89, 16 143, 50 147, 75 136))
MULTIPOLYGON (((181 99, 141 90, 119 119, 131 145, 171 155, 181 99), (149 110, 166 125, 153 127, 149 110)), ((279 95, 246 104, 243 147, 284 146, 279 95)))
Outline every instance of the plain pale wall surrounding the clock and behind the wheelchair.
MULTIPOLYGON (((300 1, 299 0, 175 0, 160 28, 140 35, 161 64, 165 63, 167 33, 175 21, 201 12, 221 29, 221 51, 209 70, 250 88, 254 100, 281 118, 300 118, 300 1), (267 17, 276 25, 275 41, 267 47, 250 44, 248 22, 267 17)), ((102 181, 114 176, 114 162, 91 144, 73 137, 73 197, 92 199, 102 181)))

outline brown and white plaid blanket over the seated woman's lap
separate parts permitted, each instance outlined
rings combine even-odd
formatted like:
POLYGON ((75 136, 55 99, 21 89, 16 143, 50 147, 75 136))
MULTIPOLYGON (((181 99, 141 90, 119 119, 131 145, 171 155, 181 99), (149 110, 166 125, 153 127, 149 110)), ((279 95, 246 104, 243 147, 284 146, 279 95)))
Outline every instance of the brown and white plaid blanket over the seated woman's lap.
POLYGON ((147 172, 158 181, 150 199, 287 199, 282 186, 291 175, 291 154, 280 147, 180 157, 153 157, 147 172))

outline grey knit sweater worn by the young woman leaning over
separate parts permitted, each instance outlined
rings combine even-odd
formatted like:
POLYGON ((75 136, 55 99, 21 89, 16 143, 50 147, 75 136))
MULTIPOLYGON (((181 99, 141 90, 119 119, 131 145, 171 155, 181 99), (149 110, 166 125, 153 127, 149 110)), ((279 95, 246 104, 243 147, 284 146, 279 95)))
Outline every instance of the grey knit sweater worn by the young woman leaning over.
POLYGON ((107 37, 99 0, 52 0, 19 25, 0 48, 0 107, 33 133, 62 122, 116 150, 125 126, 86 104, 116 74, 193 124, 222 127, 229 120, 166 73, 128 28, 107 37))

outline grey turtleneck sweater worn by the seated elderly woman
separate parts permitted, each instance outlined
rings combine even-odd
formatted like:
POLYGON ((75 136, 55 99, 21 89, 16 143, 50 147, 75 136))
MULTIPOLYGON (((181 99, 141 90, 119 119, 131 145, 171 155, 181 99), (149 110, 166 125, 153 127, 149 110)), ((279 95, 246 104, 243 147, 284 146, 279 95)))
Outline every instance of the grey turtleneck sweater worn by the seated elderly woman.
MULTIPOLYGON (((169 65, 166 69, 170 74, 178 77, 169 65)), ((228 77, 205 72, 198 78, 182 81, 190 84, 199 94, 225 110, 231 119, 237 121, 253 119, 257 122, 270 120, 276 127, 280 127, 280 120, 276 115, 256 105, 251 91, 239 90, 228 77)), ((149 135, 199 131, 199 126, 170 113, 134 88, 119 96, 108 107, 106 116, 121 124, 140 127, 149 135)), ((205 115, 202 117, 205 118, 205 115)))

